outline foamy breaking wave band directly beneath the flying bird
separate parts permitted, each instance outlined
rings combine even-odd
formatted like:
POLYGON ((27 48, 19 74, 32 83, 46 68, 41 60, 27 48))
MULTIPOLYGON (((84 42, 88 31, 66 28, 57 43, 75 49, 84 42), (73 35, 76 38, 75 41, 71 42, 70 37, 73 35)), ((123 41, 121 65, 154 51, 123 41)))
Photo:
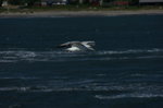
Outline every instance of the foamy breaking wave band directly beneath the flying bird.
POLYGON ((163 58, 163 49, 129 49, 129 50, 103 50, 93 52, 66 52, 66 51, 28 51, 7 50, 0 51, 0 62, 36 62, 36 61, 91 61, 91 60, 129 60, 129 59, 160 59, 163 58))

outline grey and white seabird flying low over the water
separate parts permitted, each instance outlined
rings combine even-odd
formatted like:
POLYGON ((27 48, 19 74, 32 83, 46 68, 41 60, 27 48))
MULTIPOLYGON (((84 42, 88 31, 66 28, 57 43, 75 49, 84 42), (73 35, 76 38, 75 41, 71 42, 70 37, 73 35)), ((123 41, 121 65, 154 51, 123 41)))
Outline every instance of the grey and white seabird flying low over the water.
POLYGON ((66 51, 93 51, 95 41, 67 41, 58 46, 58 48, 66 48, 66 51))

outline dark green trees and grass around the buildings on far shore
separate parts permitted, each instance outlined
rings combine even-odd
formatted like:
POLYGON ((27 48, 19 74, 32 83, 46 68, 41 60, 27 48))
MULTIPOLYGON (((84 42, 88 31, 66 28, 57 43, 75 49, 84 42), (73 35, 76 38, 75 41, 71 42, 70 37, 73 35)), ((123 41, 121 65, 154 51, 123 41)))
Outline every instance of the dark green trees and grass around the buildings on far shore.
MULTIPOLYGON (((0 0, 0 5, 3 0, 0 0)), ((93 3, 84 3, 84 4, 65 4, 65 5, 36 5, 36 2, 40 2, 40 0, 8 0, 11 5, 16 5, 16 8, 8 7, 0 8, 0 12, 41 12, 41 11, 116 11, 116 10, 163 10, 163 5, 139 5, 138 0, 103 0, 103 5, 93 4, 93 3), (127 1, 127 4, 114 4, 112 2, 118 1, 127 1), (106 3, 105 3, 106 2, 106 3)))

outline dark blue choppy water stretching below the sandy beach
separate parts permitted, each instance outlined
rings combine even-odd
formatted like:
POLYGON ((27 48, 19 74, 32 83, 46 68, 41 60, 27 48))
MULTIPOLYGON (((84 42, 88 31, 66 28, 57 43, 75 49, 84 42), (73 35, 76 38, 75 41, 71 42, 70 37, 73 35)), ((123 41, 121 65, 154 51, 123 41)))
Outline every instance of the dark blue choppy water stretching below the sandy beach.
POLYGON ((0 108, 163 108, 163 15, 1 17, 0 108))

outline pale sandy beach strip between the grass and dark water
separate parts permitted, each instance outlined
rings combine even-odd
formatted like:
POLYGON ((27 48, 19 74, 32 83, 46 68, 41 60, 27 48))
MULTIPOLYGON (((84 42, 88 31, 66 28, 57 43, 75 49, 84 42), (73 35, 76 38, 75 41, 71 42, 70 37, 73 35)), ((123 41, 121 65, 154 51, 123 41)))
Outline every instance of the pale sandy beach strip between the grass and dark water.
POLYGON ((163 10, 2 12, 0 17, 117 16, 163 14, 163 10))

